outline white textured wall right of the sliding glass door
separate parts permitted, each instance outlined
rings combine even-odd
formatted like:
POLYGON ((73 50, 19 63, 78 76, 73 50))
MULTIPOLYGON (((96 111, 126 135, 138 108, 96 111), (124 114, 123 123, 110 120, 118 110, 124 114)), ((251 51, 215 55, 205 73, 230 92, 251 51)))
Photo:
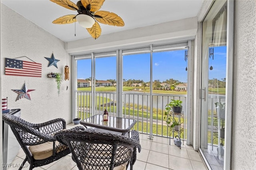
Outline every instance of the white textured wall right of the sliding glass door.
POLYGON ((256 169, 256 1, 235 1, 232 169, 256 169))

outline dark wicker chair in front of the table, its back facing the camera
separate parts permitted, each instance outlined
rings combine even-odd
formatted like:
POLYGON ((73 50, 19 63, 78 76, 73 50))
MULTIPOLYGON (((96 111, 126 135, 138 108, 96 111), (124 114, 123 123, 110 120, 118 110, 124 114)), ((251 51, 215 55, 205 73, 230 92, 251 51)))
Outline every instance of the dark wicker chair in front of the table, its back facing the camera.
POLYGON ((54 135, 67 144, 72 159, 79 170, 130 170, 136 161, 136 151, 140 152, 139 133, 131 131, 131 138, 109 132, 89 130, 66 130, 54 135))

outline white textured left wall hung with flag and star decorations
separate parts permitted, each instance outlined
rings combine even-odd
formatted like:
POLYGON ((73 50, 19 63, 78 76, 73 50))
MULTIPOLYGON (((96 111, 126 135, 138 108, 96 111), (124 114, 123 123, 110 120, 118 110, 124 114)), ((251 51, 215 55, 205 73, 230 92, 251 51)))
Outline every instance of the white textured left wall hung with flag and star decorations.
MULTIPOLYGON (((68 64, 71 69, 71 57, 66 55, 65 43, 39 28, 29 20, 23 18, 10 8, 2 4, 2 54, 1 76, 2 97, 8 97, 8 109, 21 109, 21 117, 33 123, 41 123, 54 118, 64 118, 67 123, 72 122, 71 80, 62 82, 60 95, 57 93, 55 79, 47 78, 48 73, 62 73, 68 64), (48 67, 49 61, 44 57, 54 57, 60 61, 55 66, 48 67), (42 77, 11 76, 4 74, 5 58, 27 56, 42 64, 42 77), (15 101, 18 94, 11 89, 21 89, 24 81, 31 100, 26 98, 15 101), (68 90, 66 86, 68 85, 68 90)), ((26 58, 21 60, 29 61, 26 58)), ((71 74, 70 74, 71 75, 71 74)))

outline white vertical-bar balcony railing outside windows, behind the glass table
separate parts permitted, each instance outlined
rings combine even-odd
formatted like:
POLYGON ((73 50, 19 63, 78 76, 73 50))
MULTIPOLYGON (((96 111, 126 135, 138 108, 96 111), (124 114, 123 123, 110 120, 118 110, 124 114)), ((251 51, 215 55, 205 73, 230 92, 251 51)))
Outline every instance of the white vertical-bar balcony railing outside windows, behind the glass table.
MULTIPOLYGON (((76 115, 85 119, 90 117, 92 112, 90 91, 76 91, 76 115)), ((165 106, 171 99, 179 99, 183 101, 182 108, 184 111, 184 124, 186 127, 186 95, 171 94, 155 94, 152 95, 152 114, 150 108, 150 94, 140 92, 123 92, 122 93, 122 112, 123 117, 135 119, 137 124, 135 130, 150 134, 150 126, 152 126, 152 134, 157 136, 169 137, 169 129, 164 119, 165 106), (152 117, 152 121, 150 118, 152 117), (152 122, 152 123, 150 123, 152 122), (152 124, 152 125, 151 125, 152 124)), ((116 93, 115 92, 96 92, 95 93, 95 114, 103 114, 107 109, 108 114, 116 116, 116 93)), ((186 129, 186 128, 185 128, 186 129)), ((184 130, 184 134, 186 130, 184 130)), ((186 135, 184 135, 186 136, 186 135)), ((172 133, 172 138, 174 133, 172 133)), ((181 136, 183 138, 183 136, 181 136)))

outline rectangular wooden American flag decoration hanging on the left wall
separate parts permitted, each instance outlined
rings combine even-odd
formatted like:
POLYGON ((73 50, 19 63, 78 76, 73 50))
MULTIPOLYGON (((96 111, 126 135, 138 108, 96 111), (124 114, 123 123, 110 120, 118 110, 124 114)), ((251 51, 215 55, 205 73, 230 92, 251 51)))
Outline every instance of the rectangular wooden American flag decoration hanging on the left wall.
POLYGON ((42 64, 5 58, 5 75, 42 77, 42 64))

